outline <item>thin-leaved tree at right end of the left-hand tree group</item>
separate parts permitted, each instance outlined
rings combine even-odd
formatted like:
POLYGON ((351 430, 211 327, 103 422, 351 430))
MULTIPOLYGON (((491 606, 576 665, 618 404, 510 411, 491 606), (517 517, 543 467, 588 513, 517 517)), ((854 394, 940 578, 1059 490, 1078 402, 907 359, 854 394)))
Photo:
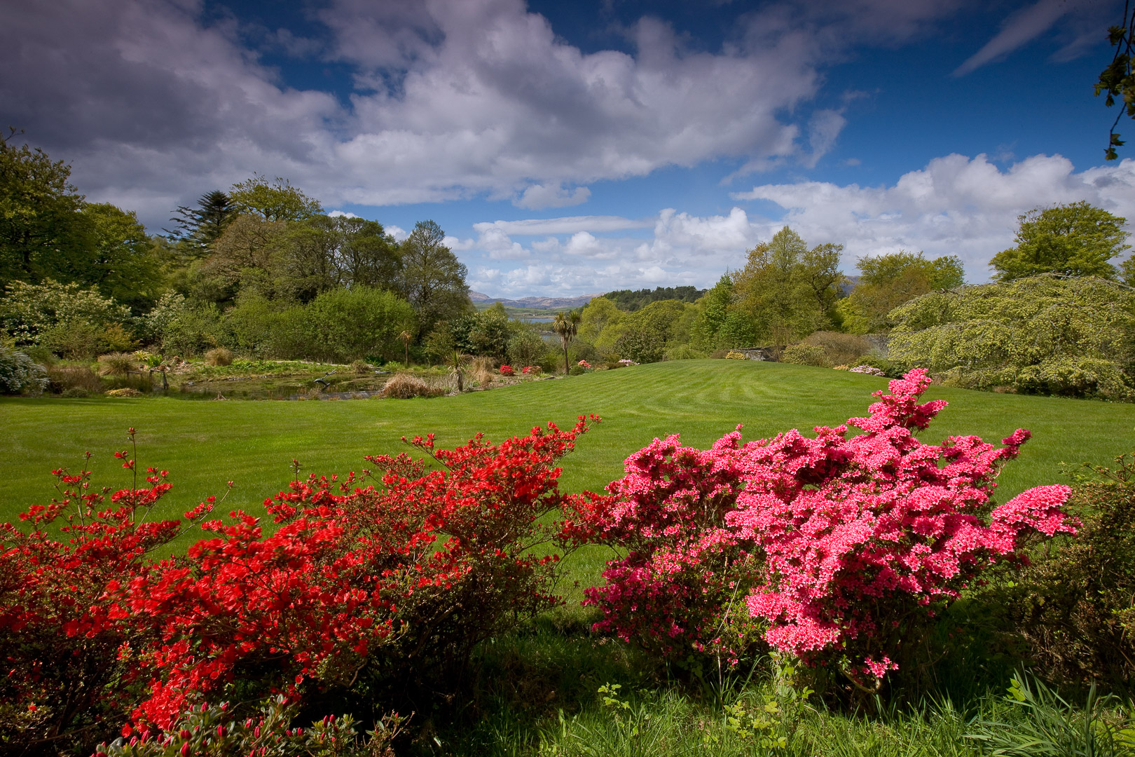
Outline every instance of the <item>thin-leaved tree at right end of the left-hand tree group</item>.
POLYGON ((402 291, 418 311, 422 333, 440 320, 473 310, 465 276, 469 269, 445 246, 445 232, 431 220, 418 221, 400 246, 402 291))

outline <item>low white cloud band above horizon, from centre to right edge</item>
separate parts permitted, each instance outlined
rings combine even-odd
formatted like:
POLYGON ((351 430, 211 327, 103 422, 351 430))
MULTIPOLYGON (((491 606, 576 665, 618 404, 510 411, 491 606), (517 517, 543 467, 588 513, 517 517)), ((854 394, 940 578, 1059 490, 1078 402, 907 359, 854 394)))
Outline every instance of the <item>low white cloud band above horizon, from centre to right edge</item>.
POLYGON ((809 245, 843 244, 848 274, 863 255, 920 250, 932 258, 958 255, 968 280, 984 281, 989 260, 1012 245, 1018 216, 1033 208, 1086 200, 1129 215, 1135 160, 1076 171, 1060 155, 1033 155, 999 169, 985 155, 951 154, 890 186, 798 182, 732 196, 772 201, 784 212, 765 218, 734 207, 696 216, 667 208, 639 221, 580 216, 476 224, 478 238, 465 247, 471 285, 502 296, 706 287, 726 269, 743 267, 746 251, 785 225, 809 245))

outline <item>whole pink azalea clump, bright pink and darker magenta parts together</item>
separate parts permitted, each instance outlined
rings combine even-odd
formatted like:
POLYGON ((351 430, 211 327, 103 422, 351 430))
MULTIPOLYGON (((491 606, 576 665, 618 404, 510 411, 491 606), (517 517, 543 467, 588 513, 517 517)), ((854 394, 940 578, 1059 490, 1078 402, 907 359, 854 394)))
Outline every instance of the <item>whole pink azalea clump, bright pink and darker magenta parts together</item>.
POLYGON ((739 445, 734 432, 704 452, 670 437, 632 455, 609 496, 579 501, 570 524, 628 549, 588 595, 604 613, 597 628, 648 647, 669 637, 728 649, 732 592, 751 584, 745 604, 770 645, 877 689, 982 571, 1023 558, 1026 535, 1075 533, 1068 487, 993 502, 1028 431, 1002 447, 915 437, 947 404, 919 403, 928 385, 913 370, 875 393, 867 417, 815 437, 739 445))

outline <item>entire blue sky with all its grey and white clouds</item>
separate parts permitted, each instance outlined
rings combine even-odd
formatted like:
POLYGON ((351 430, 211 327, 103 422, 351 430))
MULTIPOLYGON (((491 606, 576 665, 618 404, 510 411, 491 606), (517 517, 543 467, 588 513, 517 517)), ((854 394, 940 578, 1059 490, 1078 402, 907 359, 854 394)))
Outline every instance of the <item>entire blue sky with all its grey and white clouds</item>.
POLYGON ((1093 93, 1117 0, 0 10, 0 125, 89 200, 160 233, 284 177, 396 238, 437 221, 490 296, 708 287, 783 226, 842 244, 848 275, 907 250, 981 283, 1034 208, 1135 221, 1135 141, 1103 160, 1093 93))

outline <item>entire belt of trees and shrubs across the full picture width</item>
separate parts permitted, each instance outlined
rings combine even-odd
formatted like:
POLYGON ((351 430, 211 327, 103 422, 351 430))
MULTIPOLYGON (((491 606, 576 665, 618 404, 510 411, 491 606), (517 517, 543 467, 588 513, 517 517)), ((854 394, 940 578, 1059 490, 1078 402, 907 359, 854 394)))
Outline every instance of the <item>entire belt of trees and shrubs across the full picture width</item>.
POLYGON ((911 251, 861 256, 848 277, 842 245, 810 245, 784 227, 709 289, 609 292, 545 327, 499 304, 478 312, 465 267, 430 220, 400 242, 377 221, 328 215, 286 179, 253 175, 177 208, 171 230, 154 236, 133 212, 86 202, 69 170, 0 140, 9 346, 68 358, 225 346, 454 367, 480 355, 565 371, 762 347, 882 373, 930 367, 974 388, 1135 397, 1126 219, 1086 202, 1022 215, 1014 246, 990 260, 993 281, 977 287, 965 286, 956 255, 911 251))

